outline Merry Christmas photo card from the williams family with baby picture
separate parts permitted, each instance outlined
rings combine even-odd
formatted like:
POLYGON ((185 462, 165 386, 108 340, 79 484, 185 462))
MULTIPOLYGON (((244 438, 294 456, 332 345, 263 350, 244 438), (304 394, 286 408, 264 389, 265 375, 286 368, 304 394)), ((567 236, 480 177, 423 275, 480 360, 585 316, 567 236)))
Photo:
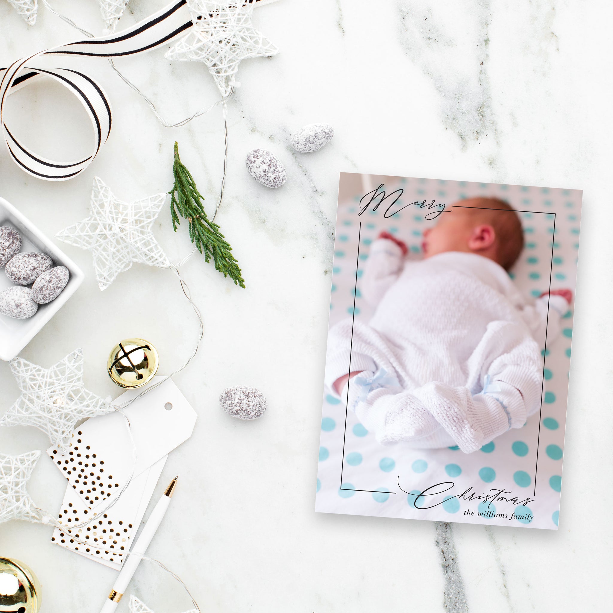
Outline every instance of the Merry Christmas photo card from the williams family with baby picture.
POLYGON ((316 511, 557 529, 581 197, 341 173, 316 511))

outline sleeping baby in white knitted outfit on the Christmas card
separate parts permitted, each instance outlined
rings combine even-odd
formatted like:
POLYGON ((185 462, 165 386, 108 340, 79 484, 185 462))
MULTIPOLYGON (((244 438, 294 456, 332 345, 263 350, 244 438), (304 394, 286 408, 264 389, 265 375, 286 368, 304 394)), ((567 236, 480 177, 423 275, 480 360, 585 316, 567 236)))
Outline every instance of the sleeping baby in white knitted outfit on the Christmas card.
POLYGON ((326 383, 379 443, 470 453, 541 405, 540 348, 571 291, 528 304, 506 272, 524 248, 516 211, 492 198, 462 205, 474 208, 444 211, 424 232, 419 261, 379 235, 360 283, 375 314, 330 329, 326 383))

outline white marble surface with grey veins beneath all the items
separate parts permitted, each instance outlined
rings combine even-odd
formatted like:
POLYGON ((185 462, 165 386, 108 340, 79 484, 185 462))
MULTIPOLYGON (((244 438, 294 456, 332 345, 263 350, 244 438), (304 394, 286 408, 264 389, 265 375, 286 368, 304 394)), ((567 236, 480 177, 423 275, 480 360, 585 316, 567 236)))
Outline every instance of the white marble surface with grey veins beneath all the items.
MULTIPOLYGON (((97 2, 53 5, 101 31, 97 2)), ((163 5, 132 0, 124 23, 163 5)), ((150 549, 185 579, 203 611, 607 608, 612 13, 602 0, 281 0, 257 9, 256 26, 281 53, 240 69, 217 218, 247 289, 198 257, 182 269, 204 313, 205 339, 175 381, 199 420, 162 474, 158 492, 177 473, 181 487, 150 549), (332 143, 294 153, 289 134, 318 121, 335 127, 332 143), (285 164, 283 188, 249 177, 244 160, 256 147, 285 164), (559 531, 314 513, 341 170, 584 189, 559 531), (221 411, 220 392, 235 384, 265 393, 264 418, 240 422, 221 411)), ((74 37, 43 7, 29 28, 0 2, 0 64, 74 37)), ((215 101, 204 66, 170 64, 163 53, 117 64, 169 118, 215 101)), ((53 235, 85 217, 94 175, 126 200, 170 189, 178 140, 211 207, 223 161, 221 110, 165 129, 104 61, 73 65, 86 65, 112 99, 109 142, 83 175, 65 183, 29 177, 4 151, 0 195, 53 235)), ((91 126, 58 86, 33 85, 9 99, 9 110, 10 126, 37 151, 68 159, 87 150, 91 126)), ((154 230, 173 259, 189 252, 185 234, 173 235, 167 209, 154 230)), ((48 367, 80 346, 86 387, 103 396, 117 392, 104 365, 121 338, 153 341, 162 374, 181 363, 197 322, 169 272, 135 265, 100 292, 90 254, 66 251, 86 279, 21 356, 48 367)), ((0 390, 2 412, 18 394, 4 363, 0 390)), ((46 446, 38 430, 0 430, 2 452, 46 446)), ((40 506, 58 509, 64 482, 47 459, 30 490, 40 506)), ((0 554, 39 574, 42 613, 97 611, 114 571, 52 545, 50 536, 40 525, 3 524, 0 554)), ((189 608, 158 569, 140 568, 133 590, 156 611, 189 608)))

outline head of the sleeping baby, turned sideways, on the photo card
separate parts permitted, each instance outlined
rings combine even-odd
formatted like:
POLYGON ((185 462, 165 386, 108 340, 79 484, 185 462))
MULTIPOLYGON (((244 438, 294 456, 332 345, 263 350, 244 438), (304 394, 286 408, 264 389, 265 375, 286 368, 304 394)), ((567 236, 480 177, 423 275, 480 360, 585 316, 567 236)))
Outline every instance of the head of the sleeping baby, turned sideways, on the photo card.
POLYGON ((497 198, 460 200, 425 230, 424 257, 464 251, 489 257, 509 270, 524 248, 524 231, 516 211, 497 198), (473 208, 461 208, 473 207, 473 208))

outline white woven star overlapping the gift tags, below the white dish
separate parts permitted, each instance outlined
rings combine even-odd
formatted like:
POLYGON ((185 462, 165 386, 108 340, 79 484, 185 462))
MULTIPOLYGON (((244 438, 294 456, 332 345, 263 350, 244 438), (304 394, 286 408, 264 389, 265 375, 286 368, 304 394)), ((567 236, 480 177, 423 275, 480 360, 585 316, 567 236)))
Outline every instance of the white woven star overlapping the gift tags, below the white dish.
POLYGON ((21 357, 10 361, 21 396, 0 419, 0 425, 32 425, 42 430, 61 454, 70 446, 72 430, 86 417, 111 413, 109 400, 83 386, 83 351, 75 349, 51 368, 21 357))

